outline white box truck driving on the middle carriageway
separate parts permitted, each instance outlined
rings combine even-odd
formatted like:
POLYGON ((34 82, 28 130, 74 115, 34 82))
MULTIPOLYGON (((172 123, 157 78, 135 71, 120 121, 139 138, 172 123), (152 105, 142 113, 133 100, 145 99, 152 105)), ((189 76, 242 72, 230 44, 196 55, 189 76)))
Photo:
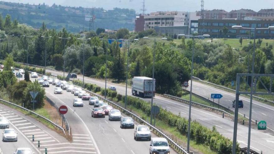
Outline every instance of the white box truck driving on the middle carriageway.
POLYGON ((156 80, 149 77, 133 77, 132 78, 132 95, 139 95, 141 97, 151 97, 153 91, 153 96, 155 96, 155 83, 156 80), (152 87, 152 81, 153 87, 152 87))

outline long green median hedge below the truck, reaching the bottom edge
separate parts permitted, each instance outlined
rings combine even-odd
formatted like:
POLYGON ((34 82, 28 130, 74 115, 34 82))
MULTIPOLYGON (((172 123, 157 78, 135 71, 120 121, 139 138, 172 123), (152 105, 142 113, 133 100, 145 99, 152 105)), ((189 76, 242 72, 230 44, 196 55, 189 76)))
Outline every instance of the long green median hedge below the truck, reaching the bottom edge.
MULTIPOLYGON (((124 102, 124 100, 123 96, 122 101, 124 102)), ((148 102, 136 97, 127 96, 127 103, 143 110, 147 115, 150 115, 151 106, 148 102)), ((157 115, 157 118, 172 127, 176 127, 182 135, 187 135, 188 120, 181 117, 180 113, 179 115, 175 115, 160 107, 160 113, 157 115)), ((213 130, 210 130, 194 120, 191 122, 190 137, 198 144, 209 146, 211 150, 216 151, 219 154, 230 154, 232 152, 233 144, 231 140, 217 132, 215 127, 213 127, 213 130)), ((239 144, 237 145, 237 151, 239 152, 239 144)))

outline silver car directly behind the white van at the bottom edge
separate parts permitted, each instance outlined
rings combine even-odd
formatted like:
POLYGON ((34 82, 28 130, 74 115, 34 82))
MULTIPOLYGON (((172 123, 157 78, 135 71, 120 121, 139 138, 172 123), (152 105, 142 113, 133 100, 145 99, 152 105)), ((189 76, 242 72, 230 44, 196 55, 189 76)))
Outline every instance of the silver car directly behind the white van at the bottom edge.
POLYGON ((146 125, 138 125, 134 130, 134 139, 139 141, 140 139, 151 140, 151 132, 146 125))

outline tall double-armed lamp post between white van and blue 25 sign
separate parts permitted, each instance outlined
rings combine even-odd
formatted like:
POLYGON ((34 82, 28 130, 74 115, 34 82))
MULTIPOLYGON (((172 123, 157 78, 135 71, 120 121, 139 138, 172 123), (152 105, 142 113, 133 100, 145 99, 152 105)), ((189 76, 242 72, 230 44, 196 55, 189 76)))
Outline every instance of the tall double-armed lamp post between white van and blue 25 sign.
POLYGON ((191 84, 190 84, 190 93, 189 93, 189 113, 188 113, 188 131, 187 131, 187 151, 189 152, 189 143, 190 143, 190 123, 191 123, 191 104, 192 104, 192 76, 193 76, 193 61, 194 61, 194 46, 195 46, 195 38, 196 37, 210 37, 210 35, 200 35, 200 36, 194 36, 194 35, 185 35, 185 34, 179 34, 179 36, 186 36, 186 37, 192 37, 192 62, 191 62, 191 84))

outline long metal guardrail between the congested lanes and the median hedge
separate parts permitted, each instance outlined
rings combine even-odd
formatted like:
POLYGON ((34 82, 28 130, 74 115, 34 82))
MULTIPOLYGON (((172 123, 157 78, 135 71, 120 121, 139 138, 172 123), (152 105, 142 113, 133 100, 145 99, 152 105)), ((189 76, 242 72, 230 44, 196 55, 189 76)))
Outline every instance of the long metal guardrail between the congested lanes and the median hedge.
MULTIPOLYGON (((76 85, 74 85, 76 86, 76 85)), ((79 86, 77 86, 79 87, 79 86)), ((80 87, 82 88, 82 87, 80 87)), ((82 88, 83 89, 83 88, 82 88)), ((159 130, 158 128, 152 126, 151 124, 149 124, 148 122, 146 122, 145 120, 141 119, 140 117, 138 117, 136 114, 130 112, 129 110, 126 110, 125 108, 121 107, 120 105, 117 105, 116 103, 107 100, 105 98, 103 98, 102 96, 97 95, 96 93, 93 93, 92 91, 88 91, 86 89, 83 89, 85 91, 87 91, 88 93, 90 93, 92 96, 97 96, 100 100, 104 100, 106 102, 108 102, 109 105, 113 106, 114 108, 120 110, 121 112, 123 112, 124 114, 130 116, 132 119, 134 119, 135 121, 137 121, 140 124, 144 124, 147 125, 153 133, 155 133, 157 136, 159 137, 163 137, 166 138, 168 140, 168 144, 177 152, 179 152, 179 154, 191 154, 191 152, 187 152, 185 149, 183 149, 180 145, 178 145, 176 142, 174 142, 168 135, 164 134, 161 130, 159 130)))

